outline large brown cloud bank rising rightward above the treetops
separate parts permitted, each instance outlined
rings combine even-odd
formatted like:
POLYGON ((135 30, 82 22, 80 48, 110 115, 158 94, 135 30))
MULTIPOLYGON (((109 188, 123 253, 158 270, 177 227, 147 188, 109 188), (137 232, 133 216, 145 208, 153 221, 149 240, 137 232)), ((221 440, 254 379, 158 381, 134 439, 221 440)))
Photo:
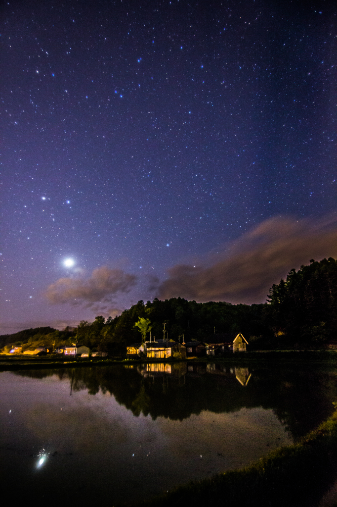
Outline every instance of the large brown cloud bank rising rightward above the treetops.
POLYGON ((261 303, 269 288, 310 259, 337 257, 335 216, 309 220, 272 218, 262 222, 208 265, 176 265, 158 288, 161 299, 261 303))

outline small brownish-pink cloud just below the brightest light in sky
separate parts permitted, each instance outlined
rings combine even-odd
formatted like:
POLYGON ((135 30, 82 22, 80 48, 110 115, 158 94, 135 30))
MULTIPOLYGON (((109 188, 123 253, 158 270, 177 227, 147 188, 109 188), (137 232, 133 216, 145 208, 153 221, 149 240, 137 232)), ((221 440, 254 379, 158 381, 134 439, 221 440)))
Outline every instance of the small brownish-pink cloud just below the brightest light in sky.
POLYGON ((87 304, 108 302, 117 293, 128 293, 137 277, 121 269, 106 266, 94 269, 90 278, 60 278, 49 285, 46 298, 51 304, 87 304))

